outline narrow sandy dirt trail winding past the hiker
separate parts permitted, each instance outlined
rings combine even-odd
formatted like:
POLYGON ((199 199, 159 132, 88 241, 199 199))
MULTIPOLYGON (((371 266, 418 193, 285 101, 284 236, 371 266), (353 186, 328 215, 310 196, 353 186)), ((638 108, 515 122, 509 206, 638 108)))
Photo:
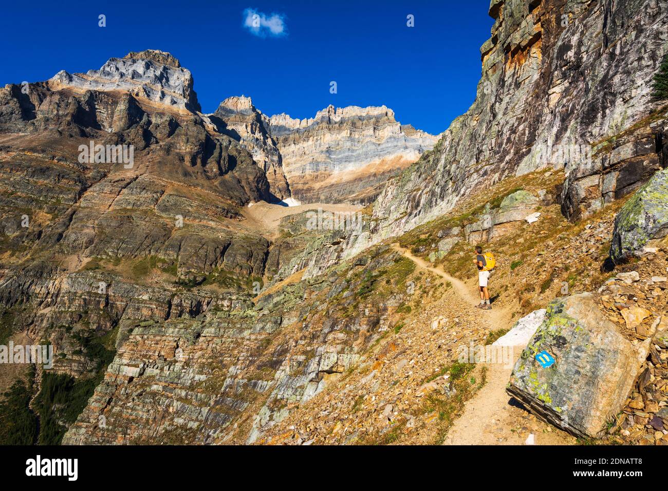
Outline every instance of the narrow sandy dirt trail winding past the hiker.
MULTIPOLYGON (((393 249, 407 257, 419 267, 450 281, 456 292, 466 301, 464 308, 474 309, 480 301, 475 285, 466 285, 460 279, 448 275, 442 269, 429 265, 424 259, 413 256, 399 244, 392 244, 393 249)), ((493 308, 480 311, 481 321, 488 324, 490 331, 510 329, 512 318, 508 309, 493 308)), ((522 353, 524 346, 512 347, 510 363, 484 363, 487 367, 487 382, 464 407, 464 412, 457 418, 446 436, 446 445, 498 445, 524 444, 526 437, 520 436, 524 428, 522 416, 526 412, 510 405, 510 396, 506 393, 506 384, 510 379, 512 367, 522 353)), ((544 425, 544 432, 535 438, 536 444, 563 444, 564 436, 560 432, 551 432, 544 425)))

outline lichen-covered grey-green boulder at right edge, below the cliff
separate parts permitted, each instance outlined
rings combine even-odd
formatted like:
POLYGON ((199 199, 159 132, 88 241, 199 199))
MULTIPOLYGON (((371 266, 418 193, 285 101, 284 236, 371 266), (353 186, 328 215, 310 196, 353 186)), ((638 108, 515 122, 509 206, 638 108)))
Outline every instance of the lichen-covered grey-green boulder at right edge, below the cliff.
POLYGON ((619 263, 637 255, 650 240, 668 234, 668 169, 640 188, 615 218, 610 257, 619 263))

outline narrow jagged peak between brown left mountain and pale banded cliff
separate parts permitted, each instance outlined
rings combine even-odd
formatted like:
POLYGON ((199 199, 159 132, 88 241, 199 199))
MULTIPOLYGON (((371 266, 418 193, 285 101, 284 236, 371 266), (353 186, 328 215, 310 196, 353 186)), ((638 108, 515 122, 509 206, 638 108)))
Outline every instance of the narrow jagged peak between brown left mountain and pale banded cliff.
POLYGON ((281 152, 269 134, 269 118, 253 106, 251 98, 227 98, 210 116, 222 120, 223 131, 251 152, 253 160, 265 171, 273 196, 278 200, 289 198, 290 186, 283 172, 281 152))

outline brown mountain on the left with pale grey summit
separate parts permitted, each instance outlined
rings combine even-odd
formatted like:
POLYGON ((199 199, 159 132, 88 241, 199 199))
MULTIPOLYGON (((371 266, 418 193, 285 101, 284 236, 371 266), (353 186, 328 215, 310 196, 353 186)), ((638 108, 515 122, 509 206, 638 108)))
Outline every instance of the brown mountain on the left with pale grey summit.
MULTIPOLYGON (((85 404, 71 391, 91 395, 140 323, 229 309, 261 284, 270 244, 242 212, 272 200, 267 174, 198 112, 174 57, 8 85, 0 108, 3 342, 51 343, 37 391, 55 384, 85 404)), ((51 416, 57 443, 73 420, 51 416)))

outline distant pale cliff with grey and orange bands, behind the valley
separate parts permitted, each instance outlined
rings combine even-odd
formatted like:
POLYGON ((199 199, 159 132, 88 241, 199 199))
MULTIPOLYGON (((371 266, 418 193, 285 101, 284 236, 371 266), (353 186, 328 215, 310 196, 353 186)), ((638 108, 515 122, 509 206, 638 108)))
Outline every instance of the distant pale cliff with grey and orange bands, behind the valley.
POLYGON ((306 203, 367 204, 438 139, 399 124, 385 106, 329 106, 315 118, 279 114, 269 123, 293 196, 306 203))

